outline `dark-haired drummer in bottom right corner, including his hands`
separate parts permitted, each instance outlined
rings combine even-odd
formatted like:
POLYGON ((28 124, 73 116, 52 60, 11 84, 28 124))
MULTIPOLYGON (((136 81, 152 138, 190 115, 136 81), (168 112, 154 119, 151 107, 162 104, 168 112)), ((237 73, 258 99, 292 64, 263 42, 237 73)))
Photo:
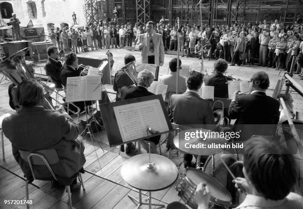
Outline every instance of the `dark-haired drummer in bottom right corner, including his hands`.
MULTIPOLYGON (((298 174, 293 156, 287 153, 262 137, 247 141, 243 156, 245 178, 238 177, 234 183, 248 194, 236 209, 303 209, 303 197, 291 192, 298 174)), ((208 209, 209 188, 201 183, 195 195, 198 209, 208 209)))

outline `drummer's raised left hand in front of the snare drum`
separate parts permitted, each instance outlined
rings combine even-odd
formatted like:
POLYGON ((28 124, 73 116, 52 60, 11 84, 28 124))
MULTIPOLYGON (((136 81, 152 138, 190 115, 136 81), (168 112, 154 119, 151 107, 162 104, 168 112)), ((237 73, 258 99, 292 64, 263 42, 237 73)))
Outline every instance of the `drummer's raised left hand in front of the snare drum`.
POLYGON ((195 192, 195 198, 198 203, 198 209, 208 209, 210 192, 209 192, 209 187, 206 186, 206 183, 200 183, 197 186, 195 192))

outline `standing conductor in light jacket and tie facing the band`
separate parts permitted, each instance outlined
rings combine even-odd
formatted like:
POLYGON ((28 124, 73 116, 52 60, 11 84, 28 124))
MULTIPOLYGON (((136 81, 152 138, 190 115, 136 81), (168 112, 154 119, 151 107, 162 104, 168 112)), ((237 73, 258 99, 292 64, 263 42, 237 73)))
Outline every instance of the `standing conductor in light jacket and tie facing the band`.
POLYGON ((159 66, 164 64, 164 46, 162 35, 154 33, 155 24, 152 21, 146 24, 147 33, 139 36, 136 50, 141 51, 142 63, 155 64, 157 69, 155 80, 158 80, 159 66))

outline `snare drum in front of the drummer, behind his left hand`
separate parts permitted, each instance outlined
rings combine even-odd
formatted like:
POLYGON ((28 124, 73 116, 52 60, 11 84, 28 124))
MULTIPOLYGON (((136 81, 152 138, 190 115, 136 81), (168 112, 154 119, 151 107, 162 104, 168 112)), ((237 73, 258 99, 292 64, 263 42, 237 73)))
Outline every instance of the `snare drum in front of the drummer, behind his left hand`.
POLYGON ((232 202, 231 195, 227 189, 216 179, 195 168, 187 168, 186 172, 181 174, 176 190, 181 199, 192 209, 197 209, 195 200, 195 191, 199 183, 205 182, 209 187, 211 209, 227 209, 232 202))

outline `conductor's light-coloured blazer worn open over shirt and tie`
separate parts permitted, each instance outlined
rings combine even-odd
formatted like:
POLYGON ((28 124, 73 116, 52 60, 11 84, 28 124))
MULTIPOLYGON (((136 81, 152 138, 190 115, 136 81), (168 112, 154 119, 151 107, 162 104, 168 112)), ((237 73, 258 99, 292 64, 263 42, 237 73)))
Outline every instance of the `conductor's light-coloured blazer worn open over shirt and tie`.
MULTIPOLYGON (((139 46, 142 44, 143 49, 141 50, 142 63, 148 63, 148 33, 140 34, 139 40, 136 44, 135 49, 139 50, 139 46)), ((160 62, 164 62, 164 45, 162 35, 153 33, 153 47, 154 47, 154 63, 156 66, 160 66, 160 62)))

